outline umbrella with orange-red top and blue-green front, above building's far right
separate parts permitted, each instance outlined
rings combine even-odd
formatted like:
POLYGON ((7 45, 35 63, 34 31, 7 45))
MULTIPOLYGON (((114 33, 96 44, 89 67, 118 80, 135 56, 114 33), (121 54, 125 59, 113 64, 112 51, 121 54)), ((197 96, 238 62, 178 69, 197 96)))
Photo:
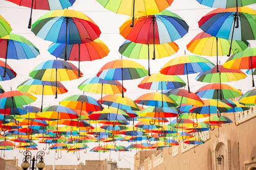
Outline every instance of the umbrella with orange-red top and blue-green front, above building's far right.
POLYGON ((242 95, 242 92, 230 85, 211 83, 202 86, 195 92, 200 98, 206 99, 232 99, 242 95))

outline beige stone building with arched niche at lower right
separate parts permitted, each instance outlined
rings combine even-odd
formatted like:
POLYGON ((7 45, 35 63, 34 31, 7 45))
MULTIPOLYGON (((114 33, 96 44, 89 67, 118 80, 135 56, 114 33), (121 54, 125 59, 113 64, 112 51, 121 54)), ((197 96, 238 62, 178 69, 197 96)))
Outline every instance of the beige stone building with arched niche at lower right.
MULTIPOLYGON (((234 120, 233 113, 223 115, 234 120)), ((256 170, 256 107, 235 114, 235 123, 198 133, 204 144, 180 144, 163 151, 139 151, 134 170, 256 170), (217 158, 221 160, 218 163, 217 158)))

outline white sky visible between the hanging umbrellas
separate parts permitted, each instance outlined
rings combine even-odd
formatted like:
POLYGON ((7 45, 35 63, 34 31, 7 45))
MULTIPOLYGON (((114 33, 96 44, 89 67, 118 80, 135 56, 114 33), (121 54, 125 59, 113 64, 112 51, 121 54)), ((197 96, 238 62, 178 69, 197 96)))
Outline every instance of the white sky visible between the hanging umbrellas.
MULTIPOLYGON (((255 5, 251 6, 255 9, 255 5)), ((128 18, 128 16, 116 14, 114 12, 108 11, 104 9, 100 4, 98 4, 96 1, 93 0, 77 0, 73 7, 69 9, 74 9, 80 12, 83 12, 84 14, 91 17, 99 26, 101 30, 101 35, 99 37, 100 40, 102 40, 106 45, 108 45, 110 49, 110 53, 107 57, 101 59, 101 60, 95 60, 95 61, 84 61, 80 63, 80 69, 83 72, 84 76, 78 80, 73 80, 71 82, 61 82, 63 85, 66 86, 66 88, 69 90, 66 94, 58 94, 58 99, 54 99, 53 96, 44 96, 44 107, 49 105, 58 105, 59 101, 66 98, 69 95, 73 94, 82 94, 83 92, 80 91, 77 86, 86 80, 89 77, 93 77, 97 74, 98 70, 109 61, 112 61, 114 59, 120 59, 121 55, 118 52, 119 46, 123 43, 125 40, 120 34, 119 34, 119 27, 122 25, 122 23, 128 18)), ((197 35, 202 30, 198 27, 198 21, 200 18, 206 14, 207 12, 211 11, 211 8, 208 8, 206 6, 200 5, 196 2, 196 0, 174 0, 174 3, 168 8, 170 11, 177 13, 180 15, 188 24, 189 31, 188 33, 181 39, 175 41, 179 47, 180 50, 177 54, 162 58, 162 59, 156 59, 151 60, 151 74, 154 72, 158 72, 160 68, 170 59, 176 56, 184 55, 184 51, 186 50, 186 44, 194 38, 195 35, 197 35)), ((48 11, 44 10, 33 10, 33 16, 32 16, 32 23, 35 22, 37 18, 39 18, 41 15, 45 14, 48 11)), ((15 90, 16 87, 24 82, 25 80, 29 79, 30 77, 29 72, 36 66, 38 63, 49 60, 49 59, 55 59, 54 56, 51 56, 49 54, 48 46, 51 44, 50 41, 42 40, 39 37, 36 37, 28 28, 28 21, 29 21, 29 14, 30 9, 26 7, 20 7, 18 5, 15 5, 13 3, 0 0, 0 14, 4 16, 10 23, 13 31, 12 33, 22 35, 29 39, 32 43, 34 43, 40 50, 40 55, 37 56, 35 59, 30 60, 8 60, 7 63, 16 71, 17 77, 5 81, 0 82, 0 85, 6 90, 9 91, 15 90)), ((255 47, 256 43, 254 41, 250 41, 251 47, 255 47)), ((189 51, 186 50, 186 54, 190 54, 189 51)), ((123 57, 124 59, 127 59, 126 57, 123 57)), ((216 57, 206 57, 208 60, 211 60, 212 62, 216 63, 216 57)), ((221 56, 220 63, 223 64, 226 60, 226 56, 221 56)), ((4 61, 4 59, 1 59, 4 61)), ((135 60, 147 68, 147 60, 135 60)), ((78 66, 78 62, 72 62, 74 65, 78 66)), ((246 71, 246 70, 244 70, 246 71)), ((189 75, 189 85, 190 90, 195 92, 197 89, 199 89, 201 86, 205 85, 204 83, 197 82, 194 80, 197 74, 189 75)), ((187 82, 185 76, 180 76, 185 82, 187 82)), ((124 81, 124 87, 127 89, 125 96, 128 96, 132 99, 137 99, 138 96, 142 95, 145 92, 152 92, 150 90, 143 90, 137 87, 137 84, 142 79, 137 80, 126 80, 124 81)), ((238 89, 242 89, 242 92, 245 93, 246 91, 252 89, 251 87, 251 76, 248 76, 244 80, 240 80, 239 82, 234 83, 227 83, 229 85, 232 85, 238 89)), ((187 86, 186 86, 187 88, 187 86)), ((94 97, 95 99, 100 98, 100 94, 92 94, 92 93, 84 93, 86 95, 90 95, 94 97)), ((32 103, 31 105, 40 107, 41 102, 41 95, 36 95, 37 101, 32 103)), ((127 143, 126 143, 127 145, 127 143)), ((42 145, 44 147, 45 145, 42 145)), ((41 147, 39 146, 38 149, 41 147)), ((92 147, 90 147, 91 149, 92 147)), ((19 154, 17 150, 14 151, 7 151, 6 158, 13 159, 14 156, 16 157, 23 157, 22 154, 19 154)), ((76 156, 72 153, 64 154, 65 152, 62 151, 62 159, 57 160, 56 164, 78 164, 79 162, 83 162, 86 159, 99 159, 98 153, 90 153, 83 154, 80 152, 81 159, 80 161, 76 160, 76 156)), ((118 161, 118 153, 112 152, 112 158, 113 160, 116 160, 118 162, 119 167, 131 167, 133 169, 133 155, 135 154, 135 151, 133 152, 124 152, 121 153, 122 160, 118 161)), ((47 164, 53 164, 53 157, 54 152, 51 151, 50 155, 45 156, 45 162, 47 164)), ((104 155, 101 153, 100 155, 101 159, 103 158, 109 158, 109 153, 105 153, 104 155)), ((21 159, 20 162, 21 163, 21 159)))

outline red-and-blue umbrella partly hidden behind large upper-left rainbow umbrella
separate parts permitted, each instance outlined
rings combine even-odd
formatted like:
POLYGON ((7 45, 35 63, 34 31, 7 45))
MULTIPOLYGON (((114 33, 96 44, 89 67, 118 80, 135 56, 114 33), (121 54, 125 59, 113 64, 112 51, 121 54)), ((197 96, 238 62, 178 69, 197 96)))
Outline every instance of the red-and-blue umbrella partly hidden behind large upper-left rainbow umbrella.
MULTIPOLYGON (((80 61, 93 61, 108 56, 109 48, 100 39, 85 42, 82 44, 52 43, 48 51, 55 57, 65 59, 67 46, 67 60, 78 61, 78 74, 80 75, 80 61)), ((79 76, 78 75, 78 76, 79 76)))

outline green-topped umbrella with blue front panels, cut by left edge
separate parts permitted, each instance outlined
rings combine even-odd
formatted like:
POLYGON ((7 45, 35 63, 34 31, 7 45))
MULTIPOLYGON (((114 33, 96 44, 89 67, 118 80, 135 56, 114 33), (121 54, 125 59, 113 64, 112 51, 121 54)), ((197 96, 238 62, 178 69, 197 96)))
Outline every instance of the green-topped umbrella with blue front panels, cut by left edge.
MULTIPOLYGON (((5 63, 7 59, 30 59, 39 55, 37 47, 28 39, 12 33, 0 39, 0 48, 2 49, 0 58, 4 58, 5 63)), ((5 72, 3 77, 5 77, 5 72)))

